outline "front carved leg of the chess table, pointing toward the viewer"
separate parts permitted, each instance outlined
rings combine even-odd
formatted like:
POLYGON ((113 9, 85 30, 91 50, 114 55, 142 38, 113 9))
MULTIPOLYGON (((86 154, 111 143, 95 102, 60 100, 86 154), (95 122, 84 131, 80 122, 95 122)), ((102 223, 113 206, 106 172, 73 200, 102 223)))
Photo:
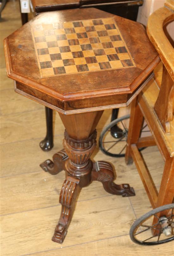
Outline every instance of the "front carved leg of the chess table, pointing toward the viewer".
POLYGON ((79 179, 68 175, 60 192, 59 203, 62 205, 62 210, 52 238, 54 242, 63 243, 72 219, 79 192, 79 179))

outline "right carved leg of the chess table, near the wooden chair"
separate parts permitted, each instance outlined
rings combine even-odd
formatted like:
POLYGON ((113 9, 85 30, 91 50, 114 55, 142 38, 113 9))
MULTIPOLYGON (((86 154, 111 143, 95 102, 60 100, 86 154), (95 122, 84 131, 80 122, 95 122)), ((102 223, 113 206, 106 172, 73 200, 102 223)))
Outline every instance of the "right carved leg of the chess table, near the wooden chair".
POLYGON ((113 168, 109 163, 98 161, 93 164, 92 180, 102 182, 106 192, 122 197, 135 196, 134 189, 129 184, 117 185, 113 182, 114 178, 113 168))

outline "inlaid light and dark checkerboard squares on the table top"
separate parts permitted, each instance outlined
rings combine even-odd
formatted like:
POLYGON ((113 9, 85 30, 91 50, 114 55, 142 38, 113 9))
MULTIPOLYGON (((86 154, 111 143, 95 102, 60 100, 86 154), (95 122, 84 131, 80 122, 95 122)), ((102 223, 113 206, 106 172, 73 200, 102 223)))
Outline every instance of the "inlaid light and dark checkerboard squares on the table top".
POLYGON ((32 26, 41 77, 134 67, 113 18, 32 26))

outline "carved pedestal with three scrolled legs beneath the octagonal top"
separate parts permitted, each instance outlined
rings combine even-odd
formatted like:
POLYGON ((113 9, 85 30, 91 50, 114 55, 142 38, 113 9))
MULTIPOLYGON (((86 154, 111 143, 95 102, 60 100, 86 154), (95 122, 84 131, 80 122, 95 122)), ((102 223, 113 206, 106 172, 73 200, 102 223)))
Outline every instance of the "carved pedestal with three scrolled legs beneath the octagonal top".
POLYGON ((51 174, 66 171, 66 179, 60 192, 62 205, 60 219, 55 228, 53 241, 62 243, 71 222, 75 202, 80 189, 92 180, 103 183, 104 189, 115 195, 134 196, 128 184, 116 185, 112 166, 104 161, 93 163, 90 156, 96 147, 96 125, 103 111, 60 117, 65 125, 64 149, 54 154, 53 161, 46 160, 40 166, 51 174))

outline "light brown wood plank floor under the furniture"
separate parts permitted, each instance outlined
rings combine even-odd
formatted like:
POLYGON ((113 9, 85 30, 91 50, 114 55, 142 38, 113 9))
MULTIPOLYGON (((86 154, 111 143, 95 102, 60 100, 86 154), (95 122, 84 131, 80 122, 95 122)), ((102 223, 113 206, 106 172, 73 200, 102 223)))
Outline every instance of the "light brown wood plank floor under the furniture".
MULTIPOLYGON (((172 256, 173 244, 138 246, 129 238, 134 220, 151 210, 135 165, 124 158, 111 158, 96 148, 94 160, 107 160, 115 166, 116 182, 134 186, 136 196, 122 198, 104 191, 99 182, 84 188, 62 245, 51 241, 59 219, 59 193, 64 173, 43 172, 39 164, 62 149, 64 127, 55 114, 54 148, 40 150, 45 135, 44 107, 14 92, 7 78, 2 39, 21 26, 19 2, 9 1, 1 22, 1 256, 172 256)), ((105 111, 97 131, 109 122, 105 111)), ((164 167, 157 147, 145 149, 144 158, 159 188, 164 167)))

